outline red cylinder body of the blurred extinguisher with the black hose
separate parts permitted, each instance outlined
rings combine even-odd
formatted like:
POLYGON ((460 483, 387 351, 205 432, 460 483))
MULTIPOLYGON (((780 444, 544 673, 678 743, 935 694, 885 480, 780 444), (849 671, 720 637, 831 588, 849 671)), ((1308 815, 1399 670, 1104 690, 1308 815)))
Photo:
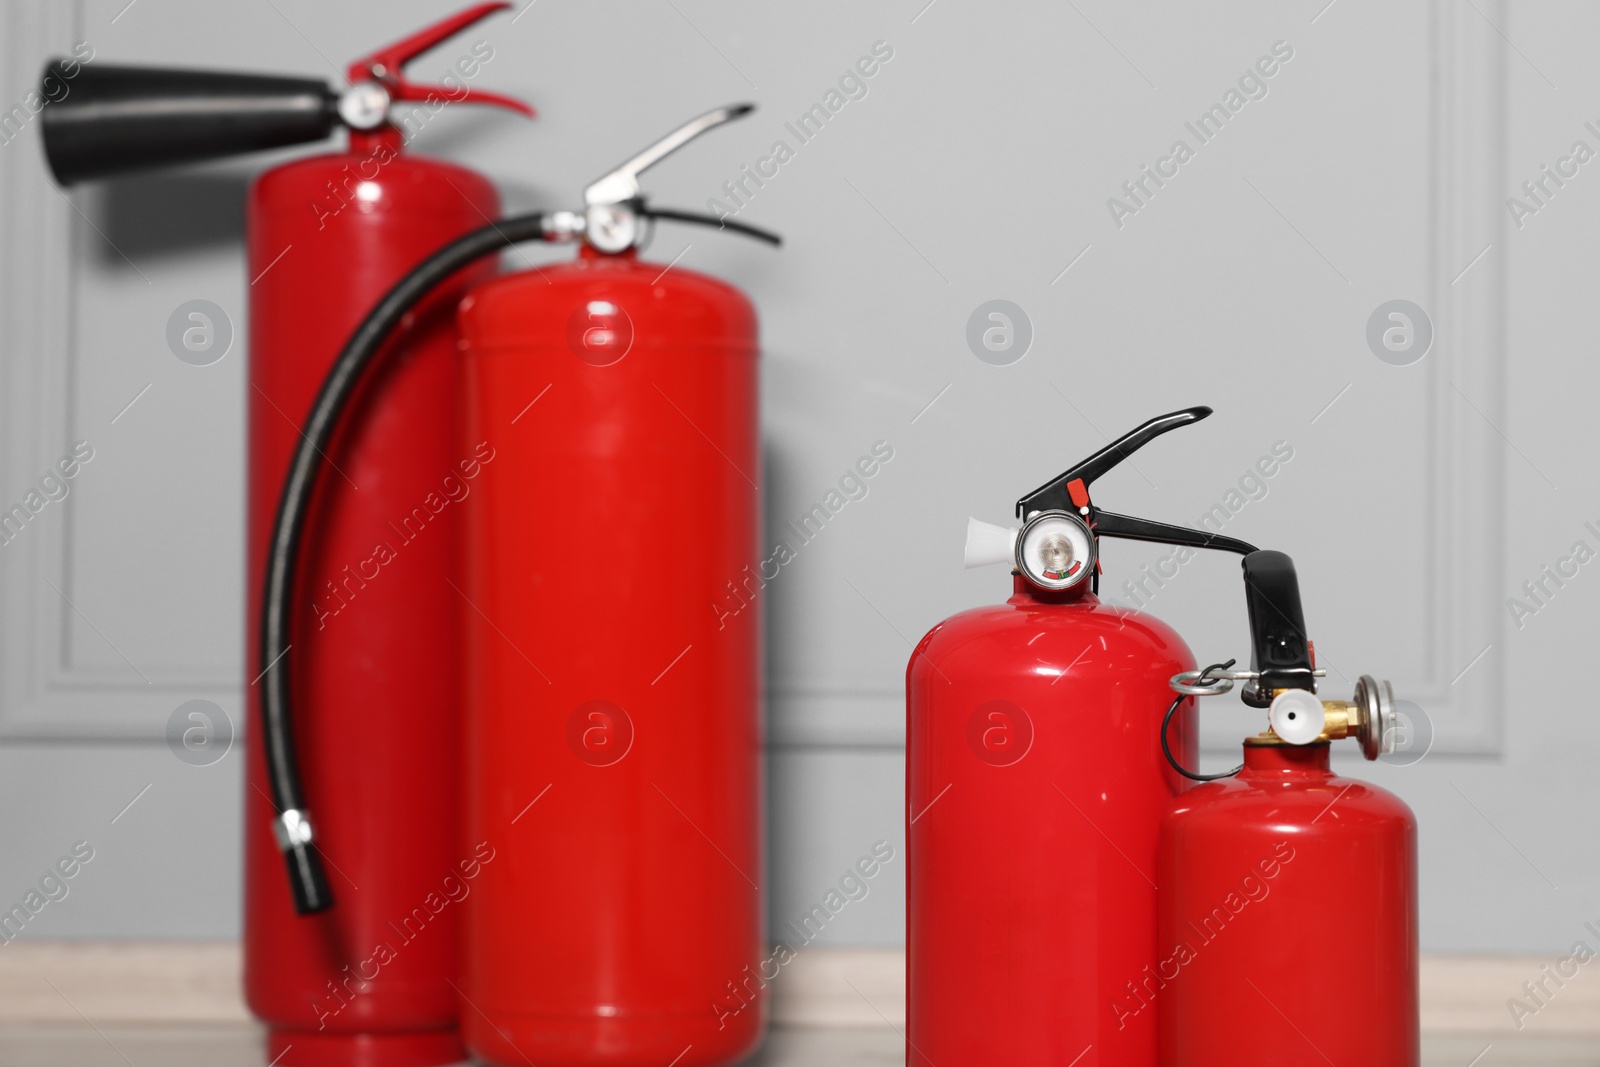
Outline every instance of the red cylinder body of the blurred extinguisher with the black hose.
POLYGON ((765 1013, 755 314, 586 248, 474 290, 461 336, 467 825, 494 856, 462 1032, 504 1065, 731 1062, 765 1013))

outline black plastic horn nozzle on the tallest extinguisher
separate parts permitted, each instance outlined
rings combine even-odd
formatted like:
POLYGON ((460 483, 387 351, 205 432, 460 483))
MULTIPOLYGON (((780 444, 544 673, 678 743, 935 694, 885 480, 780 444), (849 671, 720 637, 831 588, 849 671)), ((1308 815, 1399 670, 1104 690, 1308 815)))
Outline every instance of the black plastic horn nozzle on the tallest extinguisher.
POLYGON ((72 91, 40 115, 62 186, 322 141, 339 125, 339 98, 315 78, 102 64, 69 75, 69 66, 45 67, 45 80, 72 91))

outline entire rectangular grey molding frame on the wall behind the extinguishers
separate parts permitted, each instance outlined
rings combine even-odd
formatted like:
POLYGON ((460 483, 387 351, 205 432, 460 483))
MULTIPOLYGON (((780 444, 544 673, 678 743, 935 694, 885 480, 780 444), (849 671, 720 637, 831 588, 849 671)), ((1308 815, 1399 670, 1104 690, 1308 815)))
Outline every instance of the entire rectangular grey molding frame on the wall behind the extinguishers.
MULTIPOLYGON (((1485 13, 1502 22, 1504 0, 1485 13)), ((1430 253, 1426 299, 1435 315, 1429 374, 1422 576, 1429 605, 1426 680, 1403 696, 1429 710, 1440 753, 1493 755, 1502 744, 1504 619, 1499 603, 1504 520, 1485 501, 1506 486, 1504 187, 1506 48, 1475 11, 1434 0, 1430 253), (1458 272, 1490 246, 1461 280, 1458 272), (1485 522, 1486 517, 1493 517, 1485 522)), ((70 46, 78 3, 13 0, 0 6, 0 85, 19 98, 38 58, 70 46)), ((0 147, 0 470, 6 486, 29 485, 64 451, 77 419, 80 373, 74 330, 72 250, 94 234, 51 186, 38 154, 37 120, 0 147)), ((5 506, 8 502, 0 502, 5 506)), ((58 507, 58 506, 51 506, 58 507)), ((74 661, 72 545, 75 501, 50 525, 0 547, 0 741, 154 742, 166 713, 203 696, 242 707, 232 664, 122 669, 74 661), (32 536, 32 534, 51 536, 32 536), (58 592, 59 590, 59 592, 58 592)), ((768 694, 773 747, 882 749, 904 744, 904 697, 896 691, 768 694)))

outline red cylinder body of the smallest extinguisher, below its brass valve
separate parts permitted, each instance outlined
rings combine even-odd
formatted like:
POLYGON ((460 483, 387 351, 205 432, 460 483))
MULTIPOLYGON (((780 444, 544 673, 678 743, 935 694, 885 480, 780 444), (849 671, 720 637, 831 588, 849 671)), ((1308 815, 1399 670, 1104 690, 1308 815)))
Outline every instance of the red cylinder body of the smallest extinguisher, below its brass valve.
POLYGON ((1416 1067, 1416 819, 1326 744, 1246 742, 1243 773, 1178 798, 1158 883, 1123 1006, 1160 1017, 1162 1067, 1416 1067))

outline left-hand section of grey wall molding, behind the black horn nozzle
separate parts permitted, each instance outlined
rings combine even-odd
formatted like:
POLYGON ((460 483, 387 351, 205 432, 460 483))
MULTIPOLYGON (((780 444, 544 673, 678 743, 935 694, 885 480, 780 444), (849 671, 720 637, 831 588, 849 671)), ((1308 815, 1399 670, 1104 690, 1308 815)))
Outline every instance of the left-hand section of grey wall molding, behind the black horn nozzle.
MULTIPOLYGON (((83 37, 78 3, 14 0, 0 6, 0 86, 5 110, 34 86, 42 56, 69 53, 83 37)), ((54 187, 43 162, 38 117, 0 146, 0 472, 21 493, 82 437, 75 262, 90 222, 54 187)), ((0 545, 0 741, 158 741, 168 713, 206 697, 238 707, 230 664, 91 667, 75 656, 78 491, 50 504, 0 545)), ((93 627, 93 624, 88 624, 93 627)))

